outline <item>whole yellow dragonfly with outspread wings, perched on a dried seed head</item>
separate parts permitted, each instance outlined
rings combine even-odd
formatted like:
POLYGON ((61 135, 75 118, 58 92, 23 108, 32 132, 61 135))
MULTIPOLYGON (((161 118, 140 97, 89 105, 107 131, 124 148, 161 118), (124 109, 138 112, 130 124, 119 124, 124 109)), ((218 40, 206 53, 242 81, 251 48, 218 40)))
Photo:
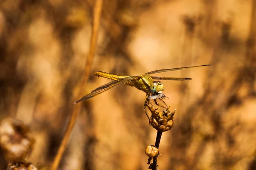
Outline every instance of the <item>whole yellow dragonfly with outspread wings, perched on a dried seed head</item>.
MULTIPOLYGON (((126 84, 129 86, 135 87, 141 91, 144 91, 146 93, 145 101, 148 101, 149 99, 165 97, 163 95, 163 89, 164 89, 163 83, 160 82, 159 80, 183 81, 183 80, 191 80, 191 78, 153 77, 153 76, 150 76, 150 74, 162 73, 162 72, 167 72, 167 71, 183 70, 183 69, 187 69, 187 68, 203 67, 203 66, 208 66, 208 65, 161 69, 161 70, 150 71, 141 76, 119 76, 116 74, 110 74, 110 73, 98 71, 98 72, 94 73, 96 76, 112 79, 113 81, 109 82, 105 85, 102 85, 99 88, 96 88, 90 94, 87 94, 86 96, 79 99, 75 103, 81 102, 86 99, 90 99, 93 96, 101 94, 111 88, 114 88, 114 87, 116 87, 118 85, 122 85, 122 84, 126 84), (158 80, 158 81, 155 81, 155 80, 158 80), (152 95, 152 96, 150 96, 150 95, 152 95)), ((145 105, 144 105, 144 108, 145 108, 145 105)))

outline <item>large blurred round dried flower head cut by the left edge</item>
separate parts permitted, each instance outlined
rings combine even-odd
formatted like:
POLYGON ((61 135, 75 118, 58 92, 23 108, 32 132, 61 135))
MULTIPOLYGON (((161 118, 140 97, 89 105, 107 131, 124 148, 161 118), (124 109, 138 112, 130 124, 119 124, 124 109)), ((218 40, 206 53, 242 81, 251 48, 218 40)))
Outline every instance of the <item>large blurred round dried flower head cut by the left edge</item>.
POLYGON ((17 119, 0 122, 0 147, 8 161, 23 161, 31 152, 35 140, 30 128, 17 119))

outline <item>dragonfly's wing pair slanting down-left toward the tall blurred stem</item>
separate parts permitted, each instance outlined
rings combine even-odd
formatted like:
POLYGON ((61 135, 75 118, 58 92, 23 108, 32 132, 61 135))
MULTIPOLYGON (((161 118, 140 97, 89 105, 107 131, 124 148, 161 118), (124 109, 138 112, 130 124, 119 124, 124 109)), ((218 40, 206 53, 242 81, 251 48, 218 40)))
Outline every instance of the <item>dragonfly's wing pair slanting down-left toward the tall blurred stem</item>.
POLYGON ((100 86, 99 88, 96 88, 95 90, 93 90, 92 92, 90 92, 89 94, 87 94, 86 96, 82 97, 81 99, 79 99, 78 101, 76 101, 74 103, 78 103, 78 102, 81 102, 83 100, 90 99, 93 96, 101 94, 104 91, 107 91, 107 90, 109 90, 111 88, 114 88, 114 87, 116 87, 118 85, 122 85, 122 84, 124 84, 126 82, 129 82, 129 81, 133 80, 133 79, 134 79, 134 77, 128 77, 128 78, 125 78, 125 79, 120 79, 118 81, 114 80, 112 82, 109 82, 109 83, 107 83, 105 85, 100 86))

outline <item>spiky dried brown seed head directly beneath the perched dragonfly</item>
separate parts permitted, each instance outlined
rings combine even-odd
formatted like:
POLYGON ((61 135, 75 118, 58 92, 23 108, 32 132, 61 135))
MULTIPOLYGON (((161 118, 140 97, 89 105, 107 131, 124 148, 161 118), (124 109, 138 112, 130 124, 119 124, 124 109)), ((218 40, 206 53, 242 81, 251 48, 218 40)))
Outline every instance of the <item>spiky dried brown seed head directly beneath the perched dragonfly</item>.
POLYGON ((161 107, 163 111, 160 111, 159 107, 154 108, 150 102, 146 102, 146 107, 151 112, 151 117, 149 119, 149 123, 152 127, 160 132, 165 132, 167 130, 172 129, 173 126, 173 116, 175 111, 171 112, 169 110, 170 107, 164 108, 161 107))

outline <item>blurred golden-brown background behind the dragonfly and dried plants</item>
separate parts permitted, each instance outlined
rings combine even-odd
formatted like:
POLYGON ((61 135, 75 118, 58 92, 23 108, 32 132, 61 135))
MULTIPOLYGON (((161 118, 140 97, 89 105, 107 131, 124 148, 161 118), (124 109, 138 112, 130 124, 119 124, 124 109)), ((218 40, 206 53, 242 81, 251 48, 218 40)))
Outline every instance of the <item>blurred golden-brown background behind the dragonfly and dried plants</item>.
MULTIPOLYGON (((94 4, 0 0, 0 120, 31 125, 28 160, 51 164, 73 102, 110 82, 93 72, 136 76, 212 64, 155 75, 192 78, 164 81, 177 111, 160 142, 159 169, 255 170, 256 0, 105 0, 90 78, 78 94, 94 4)), ((144 98, 120 85, 84 101, 59 169, 147 170, 145 147, 157 131, 144 98)))

